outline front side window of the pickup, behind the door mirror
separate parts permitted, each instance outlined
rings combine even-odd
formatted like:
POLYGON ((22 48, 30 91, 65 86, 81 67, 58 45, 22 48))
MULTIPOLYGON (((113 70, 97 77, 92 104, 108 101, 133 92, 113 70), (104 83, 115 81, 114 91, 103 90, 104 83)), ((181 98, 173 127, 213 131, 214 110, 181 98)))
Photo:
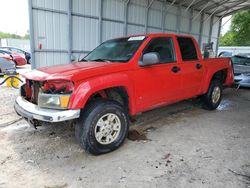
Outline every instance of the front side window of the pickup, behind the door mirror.
POLYGON ((176 60, 173 40, 170 37, 152 39, 143 51, 143 54, 157 52, 161 63, 169 63, 176 60))

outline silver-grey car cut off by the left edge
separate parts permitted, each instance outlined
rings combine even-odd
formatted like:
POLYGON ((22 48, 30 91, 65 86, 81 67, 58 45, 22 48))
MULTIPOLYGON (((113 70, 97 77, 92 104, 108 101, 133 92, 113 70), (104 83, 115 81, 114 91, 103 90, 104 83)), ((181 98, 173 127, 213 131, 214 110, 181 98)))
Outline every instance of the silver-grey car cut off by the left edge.
POLYGON ((15 71, 16 65, 12 61, 12 58, 9 55, 0 53, 0 75, 15 71))

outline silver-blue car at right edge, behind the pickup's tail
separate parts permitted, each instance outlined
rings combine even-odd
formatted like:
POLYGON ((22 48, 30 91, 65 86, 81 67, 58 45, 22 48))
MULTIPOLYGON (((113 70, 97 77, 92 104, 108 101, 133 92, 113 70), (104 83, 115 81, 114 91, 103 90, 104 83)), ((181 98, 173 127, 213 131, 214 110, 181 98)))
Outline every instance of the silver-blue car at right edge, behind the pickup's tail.
POLYGON ((250 54, 238 54, 232 57, 234 80, 242 87, 250 87, 250 54))

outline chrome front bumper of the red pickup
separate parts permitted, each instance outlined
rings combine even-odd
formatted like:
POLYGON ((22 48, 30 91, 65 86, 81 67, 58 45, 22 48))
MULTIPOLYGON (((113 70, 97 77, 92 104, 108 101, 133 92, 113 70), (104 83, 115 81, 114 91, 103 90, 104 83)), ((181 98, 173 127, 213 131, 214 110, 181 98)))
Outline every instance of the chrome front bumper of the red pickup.
POLYGON ((40 120, 45 122, 61 122, 80 117, 80 109, 53 110, 40 108, 21 96, 17 97, 14 108, 18 115, 24 117, 28 121, 40 120))

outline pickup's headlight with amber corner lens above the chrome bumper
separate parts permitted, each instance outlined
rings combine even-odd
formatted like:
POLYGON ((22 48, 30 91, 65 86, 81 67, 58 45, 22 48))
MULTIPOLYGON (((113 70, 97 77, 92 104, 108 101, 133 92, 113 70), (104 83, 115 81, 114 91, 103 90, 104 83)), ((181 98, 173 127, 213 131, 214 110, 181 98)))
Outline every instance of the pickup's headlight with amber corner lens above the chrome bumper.
POLYGON ((67 109, 70 94, 39 93, 38 106, 42 108, 67 109))

